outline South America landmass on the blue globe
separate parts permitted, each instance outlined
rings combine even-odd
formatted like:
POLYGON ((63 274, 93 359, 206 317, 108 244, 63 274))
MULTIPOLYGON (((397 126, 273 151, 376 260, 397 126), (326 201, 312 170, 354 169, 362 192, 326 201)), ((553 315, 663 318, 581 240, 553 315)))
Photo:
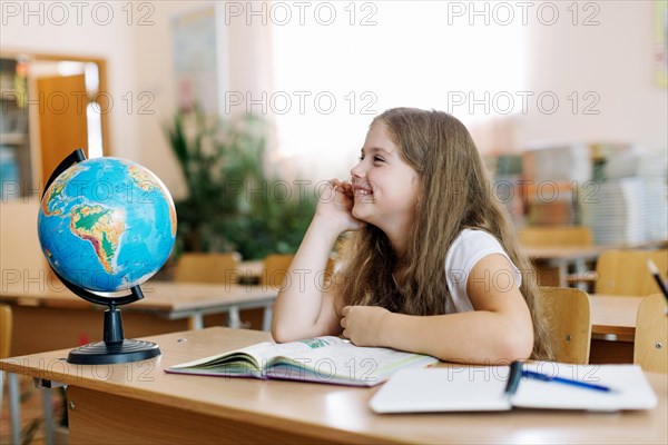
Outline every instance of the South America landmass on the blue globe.
POLYGON ((79 238, 89 241, 100 264, 114 274, 114 257, 118 253, 118 241, 125 230, 125 217, 120 209, 102 206, 76 206, 72 208, 70 229, 79 238))

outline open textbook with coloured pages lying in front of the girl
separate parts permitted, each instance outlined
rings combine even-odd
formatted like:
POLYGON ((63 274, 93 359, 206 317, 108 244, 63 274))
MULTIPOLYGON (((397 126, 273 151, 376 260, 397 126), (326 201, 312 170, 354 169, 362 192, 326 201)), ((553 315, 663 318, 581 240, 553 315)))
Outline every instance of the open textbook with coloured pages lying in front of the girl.
POLYGON ((360 347, 338 337, 324 336, 284 344, 258 343, 170 366, 165 372, 374 386, 399 369, 436 362, 426 355, 360 347))

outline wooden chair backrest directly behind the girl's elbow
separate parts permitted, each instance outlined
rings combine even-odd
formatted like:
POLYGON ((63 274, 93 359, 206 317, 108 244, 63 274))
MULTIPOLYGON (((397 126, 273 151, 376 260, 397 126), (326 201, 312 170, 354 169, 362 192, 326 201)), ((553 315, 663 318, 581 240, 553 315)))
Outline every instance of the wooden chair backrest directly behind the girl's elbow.
POLYGON ((570 287, 541 287, 541 315, 548 322, 554 362, 589 363, 591 323, 589 296, 570 287))

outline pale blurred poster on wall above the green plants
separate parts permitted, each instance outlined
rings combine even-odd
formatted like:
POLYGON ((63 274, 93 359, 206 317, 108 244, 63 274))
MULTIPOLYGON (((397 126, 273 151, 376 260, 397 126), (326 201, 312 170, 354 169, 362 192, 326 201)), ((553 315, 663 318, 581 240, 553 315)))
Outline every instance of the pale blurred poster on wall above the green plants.
POLYGON ((216 11, 214 7, 180 14, 173 20, 174 69, 178 107, 218 111, 216 11))

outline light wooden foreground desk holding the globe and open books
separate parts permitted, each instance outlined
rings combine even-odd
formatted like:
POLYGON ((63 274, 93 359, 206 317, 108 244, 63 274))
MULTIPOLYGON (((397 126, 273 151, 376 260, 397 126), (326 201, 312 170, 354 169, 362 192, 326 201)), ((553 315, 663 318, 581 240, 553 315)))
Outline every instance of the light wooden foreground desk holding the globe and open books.
POLYGON ((67 350, 16 357, 0 368, 68 385, 70 443, 657 443, 668 442, 668 380, 649 412, 515 409, 377 415, 377 388, 168 375, 165 367, 266 340, 267 333, 207 328, 149 338, 163 355, 125 365, 67 364, 67 350))

